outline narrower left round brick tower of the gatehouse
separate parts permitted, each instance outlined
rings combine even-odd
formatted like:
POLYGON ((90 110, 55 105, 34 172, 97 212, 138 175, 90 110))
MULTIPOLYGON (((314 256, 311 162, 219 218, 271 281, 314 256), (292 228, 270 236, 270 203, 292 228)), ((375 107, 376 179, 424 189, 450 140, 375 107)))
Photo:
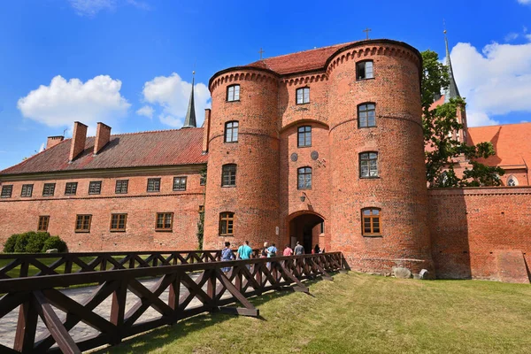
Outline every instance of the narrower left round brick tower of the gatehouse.
POLYGON ((261 247, 264 241, 278 242, 277 76, 268 70, 230 68, 212 76, 210 90, 212 116, 204 248, 219 248, 225 241, 237 246, 249 240, 253 248, 261 247), (235 96, 235 92, 239 95, 235 96), (227 126, 230 122, 232 126, 227 126), (236 142, 235 122, 238 127, 236 142), (228 138, 227 128, 233 129, 228 138), (222 181, 223 165, 235 167, 234 186, 224 186, 227 180, 222 181), (229 215, 232 221, 226 219, 227 212, 234 213, 229 215), (227 230, 228 223, 232 224, 232 229, 227 230))

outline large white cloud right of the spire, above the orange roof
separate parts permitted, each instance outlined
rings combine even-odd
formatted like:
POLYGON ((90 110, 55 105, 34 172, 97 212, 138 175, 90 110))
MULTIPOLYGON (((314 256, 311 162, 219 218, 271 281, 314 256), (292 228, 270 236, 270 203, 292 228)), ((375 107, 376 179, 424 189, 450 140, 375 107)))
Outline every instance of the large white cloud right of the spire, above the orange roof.
POLYGON ((496 124, 493 115, 531 112, 531 43, 493 42, 481 52, 458 43, 450 57, 471 127, 496 124))

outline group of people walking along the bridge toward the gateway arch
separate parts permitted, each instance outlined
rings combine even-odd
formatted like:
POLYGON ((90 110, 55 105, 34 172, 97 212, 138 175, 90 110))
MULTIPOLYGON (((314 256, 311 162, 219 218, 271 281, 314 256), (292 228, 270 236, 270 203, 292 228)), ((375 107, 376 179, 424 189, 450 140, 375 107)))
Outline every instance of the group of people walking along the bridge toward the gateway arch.
MULTIPOLYGON (((260 250, 260 257, 261 258, 271 258, 276 257, 277 255, 277 248, 274 245, 274 243, 271 243, 269 245, 268 242, 264 242, 264 248, 260 250)), ((312 254, 317 253, 324 253, 325 250, 321 250, 319 248, 319 244, 316 244, 315 247, 312 250, 312 254)), ((221 260, 235 260, 235 259, 250 259, 252 258, 252 249, 250 248, 249 241, 245 241, 242 243, 240 247, 238 247, 238 250, 236 251, 236 254, 233 250, 230 248, 230 242, 225 242, 225 248, 221 250, 221 260)), ((284 251, 282 252, 282 256, 300 256, 304 255, 304 247, 300 242, 296 242, 295 248, 292 250, 291 247, 289 247, 289 244, 286 245, 284 248, 284 251)), ((247 265, 248 268, 250 268, 250 265, 247 265)), ((228 272, 230 270, 230 267, 224 267, 222 268, 223 272, 228 272)))

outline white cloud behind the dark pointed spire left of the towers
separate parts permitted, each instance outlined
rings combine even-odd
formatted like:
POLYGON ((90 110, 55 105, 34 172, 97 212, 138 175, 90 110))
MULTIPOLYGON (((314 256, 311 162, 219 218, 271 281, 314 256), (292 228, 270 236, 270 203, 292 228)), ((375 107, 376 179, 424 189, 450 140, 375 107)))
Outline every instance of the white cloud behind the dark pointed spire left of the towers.
MULTIPOLYGON (((150 104, 158 104, 162 112, 158 118, 171 127, 181 127, 188 110, 189 97, 192 84, 183 81, 177 73, 170 76, 158 76, 144 84, 143 99, 150 104), (181 122, 179 125, 178 122, 181 122)), ((204 109, 210 107, 210 92, 204 83, 194 86, 196 102, 197 127, 201 127, 204 121, 204 109)))

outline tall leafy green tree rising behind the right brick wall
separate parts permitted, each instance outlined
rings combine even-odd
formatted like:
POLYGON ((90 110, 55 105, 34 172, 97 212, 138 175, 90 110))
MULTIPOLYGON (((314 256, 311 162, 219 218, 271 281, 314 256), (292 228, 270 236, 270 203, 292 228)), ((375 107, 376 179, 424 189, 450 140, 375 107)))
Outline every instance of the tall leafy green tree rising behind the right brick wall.
POLYGON ((430 188, 499 186, 499 176, 504 174, 501 167, 481 164, 478 158, 489 158, 496 154, 491 142, 468 145, 458 142, 451 132, 458 131, 463 125, 458 122, 458 110, 465 107, 463 98, 451 98, 450 102, 435 109, 431 105, 442 89, 450 85, 446 65, 439 61, 435 51, 422 53, 423 72, 421 82, 422 126, 424 142, 431 149, 426 151, 426 176, 430 188), (472 168, 465 168, 459 177, 453 168, 459 157, 465 157, 472 168))

